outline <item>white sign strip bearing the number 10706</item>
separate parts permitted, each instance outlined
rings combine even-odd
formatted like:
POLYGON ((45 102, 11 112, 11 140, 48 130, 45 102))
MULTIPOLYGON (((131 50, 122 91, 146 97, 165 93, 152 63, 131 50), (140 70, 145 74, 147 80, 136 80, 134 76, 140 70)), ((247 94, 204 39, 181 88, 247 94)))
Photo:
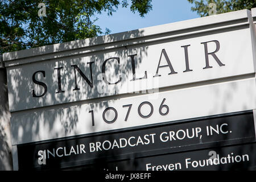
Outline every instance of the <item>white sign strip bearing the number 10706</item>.
POLYGON ((255 83, 255 78, 244 78, 95 104, 13 113, 12 142, 36 142, 251 110, 256 107, 255 83))

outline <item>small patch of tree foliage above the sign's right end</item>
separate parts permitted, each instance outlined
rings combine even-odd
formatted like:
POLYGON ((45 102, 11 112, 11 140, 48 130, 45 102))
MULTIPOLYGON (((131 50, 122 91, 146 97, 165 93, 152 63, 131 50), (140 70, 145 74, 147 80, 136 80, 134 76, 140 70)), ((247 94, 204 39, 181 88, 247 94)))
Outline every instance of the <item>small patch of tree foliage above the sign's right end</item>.
POLYGON ((256 0, 188 0, 193 3, 194 7, 191 8, 192 11, 196 11, 200 16, 209 15, 209 4, 216 4, 216 13, 228 13, 230 11, 237 11, 243 9, 252 9, 256 7, 256 0))

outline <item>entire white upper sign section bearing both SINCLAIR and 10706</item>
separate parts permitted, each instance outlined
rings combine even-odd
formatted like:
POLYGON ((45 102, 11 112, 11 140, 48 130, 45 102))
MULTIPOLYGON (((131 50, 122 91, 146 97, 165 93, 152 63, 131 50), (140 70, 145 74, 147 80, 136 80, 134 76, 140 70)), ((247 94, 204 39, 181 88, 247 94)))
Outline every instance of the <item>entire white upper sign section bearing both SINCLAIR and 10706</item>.
POLYGON ((255 44, 241 10, 5 53, 12 142, 255 109, 255 44))

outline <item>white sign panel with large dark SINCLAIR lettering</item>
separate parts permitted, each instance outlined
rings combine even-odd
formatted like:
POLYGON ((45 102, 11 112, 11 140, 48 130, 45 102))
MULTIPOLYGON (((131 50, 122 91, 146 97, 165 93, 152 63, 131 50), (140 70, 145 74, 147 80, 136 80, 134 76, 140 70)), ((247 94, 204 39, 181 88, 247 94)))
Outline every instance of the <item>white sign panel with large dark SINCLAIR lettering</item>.
MULTIPOLYGON (((7 68, 11 111, 254 73, 250 28, 7 68)), ((154 90, 152 90, 154 89, 154 90)))

